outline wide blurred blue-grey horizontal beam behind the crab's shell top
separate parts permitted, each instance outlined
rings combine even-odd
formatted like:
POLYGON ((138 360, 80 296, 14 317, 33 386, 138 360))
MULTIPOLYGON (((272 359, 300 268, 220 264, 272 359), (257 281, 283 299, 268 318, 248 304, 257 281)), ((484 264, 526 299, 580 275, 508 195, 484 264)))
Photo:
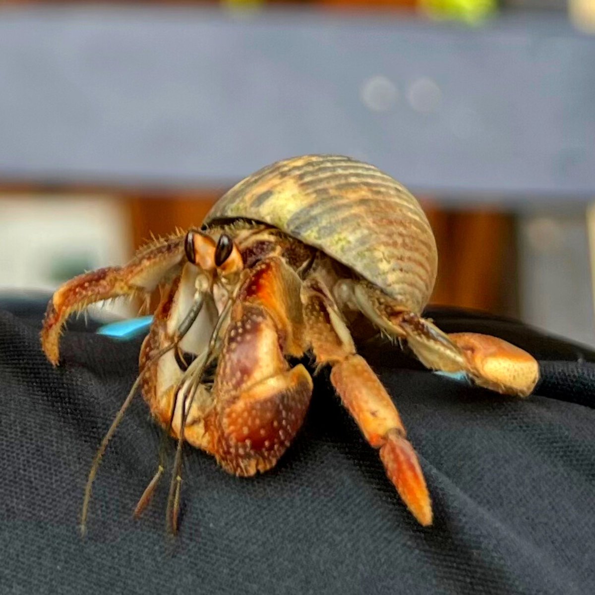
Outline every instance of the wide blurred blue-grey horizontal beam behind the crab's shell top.
POLYGON ((227 186, 309 152, 418 192, 595 196, 595 36, 192 8, 0 11, 0 181, 227 186))

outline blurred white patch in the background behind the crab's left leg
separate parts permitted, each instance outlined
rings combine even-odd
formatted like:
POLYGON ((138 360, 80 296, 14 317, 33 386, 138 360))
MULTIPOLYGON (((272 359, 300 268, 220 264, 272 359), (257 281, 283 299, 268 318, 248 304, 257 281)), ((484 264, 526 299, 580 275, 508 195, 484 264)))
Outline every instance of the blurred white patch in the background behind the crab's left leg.
MULTIPOLYGON (((131 248, 117 198, 0 197, 0 291, 52 291, 84 270, 124 264, 131 248)), ((92 308, 101 318, 137 314, 127 300, 92 308)))

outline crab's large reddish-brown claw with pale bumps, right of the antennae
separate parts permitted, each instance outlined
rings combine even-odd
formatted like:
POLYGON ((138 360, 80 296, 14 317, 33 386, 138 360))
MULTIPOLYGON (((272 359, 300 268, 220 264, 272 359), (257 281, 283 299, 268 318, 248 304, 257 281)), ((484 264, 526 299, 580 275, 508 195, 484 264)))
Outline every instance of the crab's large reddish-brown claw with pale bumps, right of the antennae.
POLYGON ((280 259, 255 265, 231 309, 205 419, 210 451, 230 473, 270 469, 302 425, 312 379, 287 356, 304 351, 300 280, 280 259))

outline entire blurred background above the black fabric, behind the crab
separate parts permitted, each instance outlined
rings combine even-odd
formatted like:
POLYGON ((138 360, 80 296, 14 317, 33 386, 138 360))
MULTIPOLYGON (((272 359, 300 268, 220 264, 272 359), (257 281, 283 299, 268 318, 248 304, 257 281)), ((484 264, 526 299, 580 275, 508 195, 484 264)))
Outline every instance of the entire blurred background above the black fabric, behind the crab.
POLYGON ((595 0, 0 0, 0 292, 322 152, 421 200, 433 303, 595 346, 595 0))

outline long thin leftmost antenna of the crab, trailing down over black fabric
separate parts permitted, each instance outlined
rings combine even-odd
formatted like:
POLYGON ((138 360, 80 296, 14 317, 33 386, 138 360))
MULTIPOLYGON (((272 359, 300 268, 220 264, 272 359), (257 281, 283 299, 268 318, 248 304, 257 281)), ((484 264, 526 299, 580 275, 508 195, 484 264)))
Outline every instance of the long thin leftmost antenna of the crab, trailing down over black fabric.
MULTIPOLYGON (((132 400, 134 398, 134 394, 136 394, 136 390, 138 389, 139 384, 142 381, 145 371, 148 370, 149 367, 151 365, 153 365, 156 361, 158 361, 158 359, 161 358, 161 356, 165 355, 165 353, 167 353, 171 349, 174 349, 174 347, 177 347, 178 343, 183 338, 184 334, 187 333, 189 328, 192 327, 192 323, 196 320, 196 318, 198 318, 198 315, 201 312, 203 303, 204 303, 204 295, 203 295, 203 293, 198 293, 196 296, 196 300, 192 305, 192 308, 190 308, 188 314, 186 315, 186 317, 184 317, 183 321, 180 323, 178 331, 176 333, 176 337, 174 338, 173 342, 171 342, 170 345, 167 345, 167 346, 163 347, 162 349, 159 349, 156 353, 151 354, 151 358, 149 359, 149 361, 146 362, 145 366, 140 371, 138 377, 134 381, 132 388, 130 389, 130 392, 128 393, 128 396, 126 397, 126 399, 122 403, 120 409, 118 410, 117 414, 115 415, 114 421, 112 421, 112 424, 109 426, 107 433, 105 433, 105 436, 101 440, 101 444, 99 445, 99 448, 97 449, 97 452, 95 453, 95 456, 93 457, 93 462, 92 462, 91 468, 89 470, 89 476, 87 477, 87 483, 84 488, 83 508, 82 508, 82 512, 81 512, 81 522, 80 522, 80 531, 83 536, 86 532, 87 515, 89 513, 89 502, 91 499, 91 490, 92 490, 92 486, 93 486, 93 481, 95 481, 95 477, 97 475, 97 469, 99 468, 99 463, 101 462, 101 459, 105 453, 105 449, 107 449, 109 440, 112 439, 115 431, 117 430, 118 425, 120 425, 120 422, 124 418, 124 414, 126 413, 126 410, 129 408, 130 403, 132 402, 132 400)), ((155 485, 156 485, 155 478, 154 478, 154 480, 152 480, 151 483, 155 483, 155 485)), ((151 484, 149 484, 149 486, 150 485, 151 484)), ((147 490, 145 490, 145 493, 146 493, 146 491, 147 490)), ((143 494, 143 497, 145 497, 145 494, 143 494)), ((141 500, 143 497, 141 497, 141 500)))

